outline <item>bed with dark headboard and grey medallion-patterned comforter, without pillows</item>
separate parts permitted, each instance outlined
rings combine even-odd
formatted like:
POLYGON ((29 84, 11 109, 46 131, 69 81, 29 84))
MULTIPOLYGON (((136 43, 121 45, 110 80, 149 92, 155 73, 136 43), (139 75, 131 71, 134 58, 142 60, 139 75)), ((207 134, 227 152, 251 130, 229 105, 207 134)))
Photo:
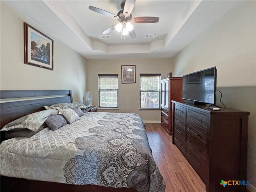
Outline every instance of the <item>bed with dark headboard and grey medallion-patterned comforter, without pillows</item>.
MULTIPOLYGON (((1 91, 1 129, 43 106, 70 102, 71 90, 1 91)), ((85 113, 30 138, 1 134, 1 142, 1 191, 165 190, 137 114, 85 113)))

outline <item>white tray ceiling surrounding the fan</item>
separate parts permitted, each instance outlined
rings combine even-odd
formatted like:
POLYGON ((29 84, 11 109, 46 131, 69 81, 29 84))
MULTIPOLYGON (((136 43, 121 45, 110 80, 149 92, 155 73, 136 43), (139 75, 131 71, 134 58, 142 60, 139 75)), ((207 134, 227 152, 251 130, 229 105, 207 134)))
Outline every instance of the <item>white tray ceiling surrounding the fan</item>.
POLYGON ((241 1, 136 0, 132 16, 159 17, 158 23, 133 24, 137 38, 125 40, 113 30, 118 20, 88 9, 94 6, 117 14, 120 0, 4 1, 88 59, 171 58, 241 1), (157 33, 156 38, 144 38, 157 33))

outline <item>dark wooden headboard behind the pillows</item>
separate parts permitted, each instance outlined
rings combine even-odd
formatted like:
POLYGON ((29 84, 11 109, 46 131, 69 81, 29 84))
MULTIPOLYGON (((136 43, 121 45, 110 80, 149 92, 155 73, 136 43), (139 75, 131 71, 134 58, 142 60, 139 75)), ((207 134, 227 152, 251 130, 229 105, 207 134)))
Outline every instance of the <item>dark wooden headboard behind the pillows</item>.
POLYGON ((42 111, 44 105, 73 102, 71 90, 0 91, 0 128, 25 115, 42 111))

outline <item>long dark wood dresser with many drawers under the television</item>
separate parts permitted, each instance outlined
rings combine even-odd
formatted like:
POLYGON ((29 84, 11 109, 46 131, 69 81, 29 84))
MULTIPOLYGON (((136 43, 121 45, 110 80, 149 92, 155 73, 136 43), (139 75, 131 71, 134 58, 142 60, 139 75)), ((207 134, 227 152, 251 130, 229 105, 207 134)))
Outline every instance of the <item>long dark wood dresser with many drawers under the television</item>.
POLYGON ((206 184, 207 192, 239 191, 246 186, 220 184, 246 180, 249 112, 172 101, 172 143, 186 157, 206 184))

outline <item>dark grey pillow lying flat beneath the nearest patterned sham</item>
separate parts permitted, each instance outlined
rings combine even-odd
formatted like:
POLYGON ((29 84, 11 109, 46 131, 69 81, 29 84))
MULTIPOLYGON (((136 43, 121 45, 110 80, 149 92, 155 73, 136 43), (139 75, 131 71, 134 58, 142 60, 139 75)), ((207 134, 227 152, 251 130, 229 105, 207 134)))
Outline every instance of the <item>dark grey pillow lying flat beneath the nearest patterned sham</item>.
POLYGON ((5 138, 6 139, 11 139, 14 137, 31 137, 34 134, 37 134, 38 132, 42 131, 44 127, 40 127, 37 131, 32 131, 29 129, 24 129, 22 128, 21 130, 10 130, 10 131, 4 131, 5 132, 5 138))

